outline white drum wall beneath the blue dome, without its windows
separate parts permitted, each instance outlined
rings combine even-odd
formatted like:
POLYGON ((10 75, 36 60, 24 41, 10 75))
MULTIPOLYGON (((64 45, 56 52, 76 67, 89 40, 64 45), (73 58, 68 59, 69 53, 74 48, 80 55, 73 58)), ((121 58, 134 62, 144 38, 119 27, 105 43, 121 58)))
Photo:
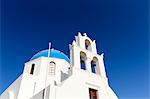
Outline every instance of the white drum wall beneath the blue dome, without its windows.
POLYGON ((40 57, 25 64, 23 79, 20 86, 18 99, 28 99, 39 93, 45 87, 53 84, 54 81, 61 83, 61 72, 68 74, 68 67, 70 64, 64 59, 40 57), (56 63, 55 75, 49 75, 49 63, 54 61, 56 63), (34 74, 30 73, 32 64, 35 64, 34 74))

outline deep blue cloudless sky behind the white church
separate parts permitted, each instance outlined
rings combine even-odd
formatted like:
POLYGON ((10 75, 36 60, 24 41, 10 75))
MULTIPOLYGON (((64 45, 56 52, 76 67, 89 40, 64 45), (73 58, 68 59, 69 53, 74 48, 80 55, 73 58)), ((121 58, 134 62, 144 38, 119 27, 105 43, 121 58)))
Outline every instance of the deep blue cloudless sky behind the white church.
MULTIPOLYGON (((147 0, 2 0, 2 93, 35 53, 52 47, 69 55, 78 31, 105 53, 110 86, 120 99, 148 99, 147 0)), ((149 97, 150 98, 150 97, 149 97)))

